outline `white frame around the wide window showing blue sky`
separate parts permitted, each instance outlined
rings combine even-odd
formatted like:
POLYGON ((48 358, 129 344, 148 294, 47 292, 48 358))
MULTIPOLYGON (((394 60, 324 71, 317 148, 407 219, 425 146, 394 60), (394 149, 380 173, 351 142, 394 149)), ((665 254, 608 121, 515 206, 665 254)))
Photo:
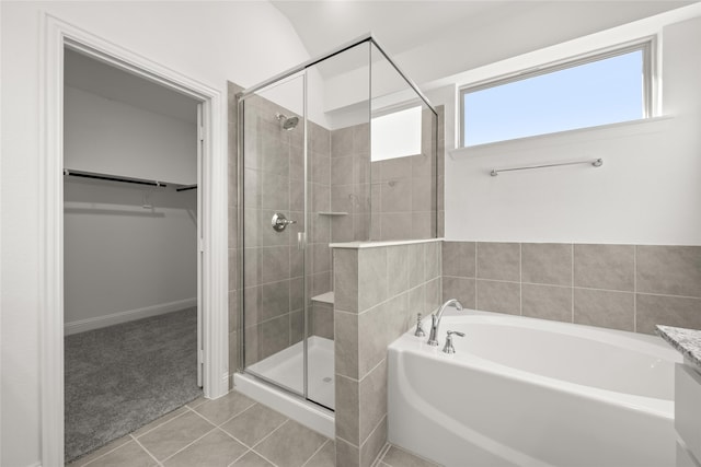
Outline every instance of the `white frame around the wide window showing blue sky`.
MULTIPOLYGON (((591 63, 599 60, 605 60, 607 58, 616 57, 619 55, 629 54, 635 50, 642 50, 643 52, 643 117, 641 119, 652 118, 657 115, 657 36, 647 36, 636 40, 628 42, 624 44, 618 44, 612 47, 607 47, 604 49, 597 49, 587 54, 577 55, 574 57, 568 57, 562 60, 552 61, 549 63, 544 63, 541 66, 528 68, 526 70, 520 70, 515 73, 504 74, 496 78, 491 78, 484 81, 479 81, 476 83, 471 83, 464 86, 459 87, 458 98, 460 106, 460 148, 472 148, 474 144, 470 147, 464 145, 464 95, 478 91, 483 91, 490 87, 497 87, 504 84, 513 83, 515 81, 522 81, 530 78, 535 78, 541 74, 553 73, 555 71, 564 70, 567 68, 579 67, 582 65, 591 63)), ((617 124, 617 122, 611 122, 617 124)), ((570 130, 577 130, 582 128, 588 127, 578 127, 571 128, 570 130)), ((568 131, 568 130, 565 130, 568 131)), ((541 133, 541 135, 532 135, 543 136, 543 135, 554 135, 562 131, 555 131, 551 133, 541 133)), ((524 137, 524 138, 529 138, 524 137)), ((492 141, 484 144, 493 144, 502 141, 509 141, 512 139, 492 141)))

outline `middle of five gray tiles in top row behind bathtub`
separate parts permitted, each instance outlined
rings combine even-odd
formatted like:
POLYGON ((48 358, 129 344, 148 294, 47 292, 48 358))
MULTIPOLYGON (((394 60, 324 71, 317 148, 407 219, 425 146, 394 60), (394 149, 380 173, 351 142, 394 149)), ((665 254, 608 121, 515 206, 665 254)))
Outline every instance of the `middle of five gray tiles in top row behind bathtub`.
POLYGON ((524 282, 572 285, 572 245, 521 244, 521 275, 524 282))

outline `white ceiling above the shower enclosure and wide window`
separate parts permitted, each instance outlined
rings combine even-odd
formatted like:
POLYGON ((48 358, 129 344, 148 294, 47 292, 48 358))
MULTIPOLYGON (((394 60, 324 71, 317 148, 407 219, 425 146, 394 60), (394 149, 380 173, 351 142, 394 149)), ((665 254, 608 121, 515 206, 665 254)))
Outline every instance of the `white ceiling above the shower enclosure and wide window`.
POLYGON ((696 2, 272 0, 311 57, 371 32, 420 84, 696 2))

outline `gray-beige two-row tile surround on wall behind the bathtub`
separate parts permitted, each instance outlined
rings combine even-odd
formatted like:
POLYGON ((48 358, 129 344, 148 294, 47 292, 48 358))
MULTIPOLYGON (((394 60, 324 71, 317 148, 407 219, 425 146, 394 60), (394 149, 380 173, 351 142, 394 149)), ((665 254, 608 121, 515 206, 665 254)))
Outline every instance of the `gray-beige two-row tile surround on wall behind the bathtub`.
POLYGON ((443 299, 466 307, 654 334, 701 328, 701 246, 449 242, 443 299))

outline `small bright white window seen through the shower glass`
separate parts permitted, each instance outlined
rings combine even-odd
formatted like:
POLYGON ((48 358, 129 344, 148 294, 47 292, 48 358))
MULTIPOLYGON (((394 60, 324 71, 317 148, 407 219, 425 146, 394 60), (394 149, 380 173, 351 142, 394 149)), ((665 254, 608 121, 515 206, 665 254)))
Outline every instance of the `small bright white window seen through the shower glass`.
POLYGON ((421 154, 421 106, 372 117, 371 160, 421 154))

